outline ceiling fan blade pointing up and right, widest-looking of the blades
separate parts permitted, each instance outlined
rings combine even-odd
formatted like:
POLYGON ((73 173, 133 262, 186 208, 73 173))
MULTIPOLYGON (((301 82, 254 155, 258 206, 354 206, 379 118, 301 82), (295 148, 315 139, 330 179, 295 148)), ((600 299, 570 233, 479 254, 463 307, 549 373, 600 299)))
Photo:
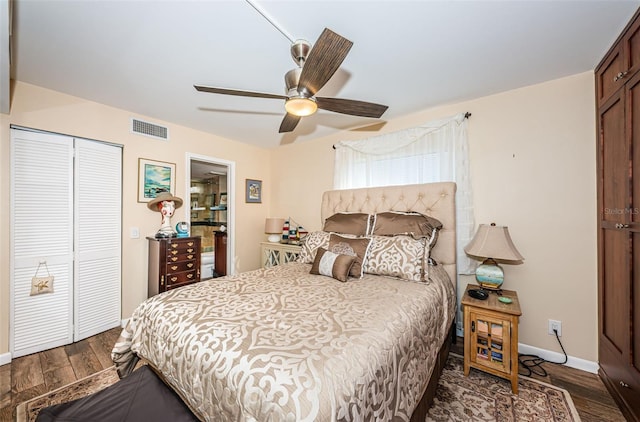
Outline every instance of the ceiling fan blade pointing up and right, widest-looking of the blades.
POLYGON ((325 28, 304 62, 298 92, 315 95, 336 73, 352 45, 348 39, 325 28))

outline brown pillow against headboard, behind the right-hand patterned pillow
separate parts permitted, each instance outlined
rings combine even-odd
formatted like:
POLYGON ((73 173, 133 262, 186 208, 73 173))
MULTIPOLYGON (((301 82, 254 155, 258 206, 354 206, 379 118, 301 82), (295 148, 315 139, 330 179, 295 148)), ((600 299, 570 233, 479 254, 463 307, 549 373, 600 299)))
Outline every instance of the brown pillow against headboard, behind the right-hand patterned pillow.
POLYGON ((417 212, 389 211, 374 216, 373 235, 395 236, 411 235, 415 238, 426 237, 433 247, 438 240, 438 231, 442 228, 440 220, 417 212))

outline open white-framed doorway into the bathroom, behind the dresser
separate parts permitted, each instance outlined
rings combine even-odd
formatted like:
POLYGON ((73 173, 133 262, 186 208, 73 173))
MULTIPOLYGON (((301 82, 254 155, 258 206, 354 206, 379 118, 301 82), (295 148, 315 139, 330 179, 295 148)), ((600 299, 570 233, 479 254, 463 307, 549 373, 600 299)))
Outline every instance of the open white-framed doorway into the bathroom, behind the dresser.
POLYGON ((187 154, 185 219, 190 235, 200 236, 202 280, 233 274, 233 198, 235 163, 187 154))

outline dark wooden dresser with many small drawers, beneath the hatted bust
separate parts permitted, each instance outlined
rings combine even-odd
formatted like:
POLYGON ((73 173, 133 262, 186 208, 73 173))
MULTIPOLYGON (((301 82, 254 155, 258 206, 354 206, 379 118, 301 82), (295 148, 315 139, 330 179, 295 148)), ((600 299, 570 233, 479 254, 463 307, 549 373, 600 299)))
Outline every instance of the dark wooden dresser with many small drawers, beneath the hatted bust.
POLYGON ((200 281, 200 237, 147 239, 149 297, 200 281))

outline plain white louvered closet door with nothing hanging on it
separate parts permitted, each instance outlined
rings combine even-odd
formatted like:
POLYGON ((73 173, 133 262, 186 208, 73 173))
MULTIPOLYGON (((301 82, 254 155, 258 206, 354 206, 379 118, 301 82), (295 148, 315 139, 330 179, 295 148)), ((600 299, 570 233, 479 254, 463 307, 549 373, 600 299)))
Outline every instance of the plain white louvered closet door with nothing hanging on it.
POLYGON ((76 139, 74 341, 120 325, 122 148, 76 139))

